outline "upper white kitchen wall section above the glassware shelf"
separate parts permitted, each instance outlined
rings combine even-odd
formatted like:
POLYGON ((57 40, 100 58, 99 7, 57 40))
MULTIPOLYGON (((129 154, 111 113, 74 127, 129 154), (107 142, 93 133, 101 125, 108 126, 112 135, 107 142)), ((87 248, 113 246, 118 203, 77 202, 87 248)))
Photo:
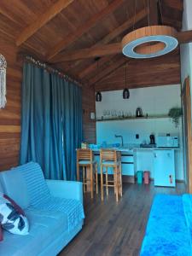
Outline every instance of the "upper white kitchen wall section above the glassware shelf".
POLYGON ((96 102, 96 118, 101 118, 104 110, 115 109, 135 116, 138 107, 143 114, 167 114, 172 107, 181 107, 180 84, 155 86, 130 90, 130 98, 124 100, 122 90, 102 92, 102 102, 96 102))

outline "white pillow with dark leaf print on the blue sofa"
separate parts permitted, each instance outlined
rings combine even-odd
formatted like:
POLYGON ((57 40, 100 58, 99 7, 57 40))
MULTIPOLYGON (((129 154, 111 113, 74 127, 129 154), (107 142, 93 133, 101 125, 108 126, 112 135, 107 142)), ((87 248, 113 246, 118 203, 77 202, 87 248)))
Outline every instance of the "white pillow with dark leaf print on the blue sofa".
POLYGON ((11 201, 0 194, 0 223, 4 230, 15 235, 26 236, 29 230, 27 218, 18 212, 11 201))

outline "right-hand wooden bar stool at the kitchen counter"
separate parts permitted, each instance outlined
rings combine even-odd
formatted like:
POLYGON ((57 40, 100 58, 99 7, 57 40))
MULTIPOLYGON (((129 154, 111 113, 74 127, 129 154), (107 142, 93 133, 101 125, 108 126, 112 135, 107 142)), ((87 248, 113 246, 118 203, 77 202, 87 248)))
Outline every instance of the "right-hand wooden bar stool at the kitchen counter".
POLYGON ((113 187, 114 194, 116 195, 116 201, 119 201, 119 195, 122 196, 122 173, 121 173, 120 154, 118 154, 116 150, 101 149, 100 165, 101 165, 102 201, 103 201, 103 187, 106 187, 107 195, 108 195, 108 187, 113 187), (113 180, 108 180, 108 167, 113 168, 113 180), (103 183, 103 174, 105 174, 105 183, 103 183))

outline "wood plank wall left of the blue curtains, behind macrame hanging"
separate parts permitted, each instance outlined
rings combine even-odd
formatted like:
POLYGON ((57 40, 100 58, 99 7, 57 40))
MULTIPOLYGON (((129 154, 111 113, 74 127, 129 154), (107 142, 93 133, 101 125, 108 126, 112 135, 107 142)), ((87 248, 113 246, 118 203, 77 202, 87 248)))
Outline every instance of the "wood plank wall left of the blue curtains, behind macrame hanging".
POLYGON ((0 171, 17 166, 20 152, 20 84, 21 62, 11 35, 1 32, 0 54, 6 58, 7 104, 0 109, 0 171))

